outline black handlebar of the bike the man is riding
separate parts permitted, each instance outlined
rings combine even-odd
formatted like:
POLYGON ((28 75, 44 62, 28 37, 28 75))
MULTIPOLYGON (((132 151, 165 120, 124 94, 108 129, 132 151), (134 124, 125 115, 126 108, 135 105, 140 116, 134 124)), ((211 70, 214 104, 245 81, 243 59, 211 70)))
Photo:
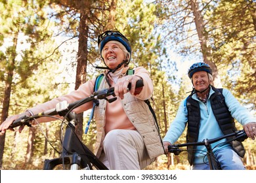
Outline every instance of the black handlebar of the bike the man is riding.
POLYGON ((189 142, 189 143, 184 143, 184 144, 172 144, 168 146, 168 152, 171 152, 175 155, 179 155, 182 151, 179 149, 179 147, 184 147, 184 146, 205 146, 207 144, 212 144, 214 142, 217 141, 221 141, 222 139, 225 139, 227 137, 234 137, 234 139, 232 139, 232 141, 236 140, 236 141, 245 141, 245 139, 247 139, 247 135, 245 133, 244 130, 238 130, 235 131, 234 133, 230 133, 228 135, 223 135, 221 137, 217 137, 215 139, 204 139, 202 142, 189 142))

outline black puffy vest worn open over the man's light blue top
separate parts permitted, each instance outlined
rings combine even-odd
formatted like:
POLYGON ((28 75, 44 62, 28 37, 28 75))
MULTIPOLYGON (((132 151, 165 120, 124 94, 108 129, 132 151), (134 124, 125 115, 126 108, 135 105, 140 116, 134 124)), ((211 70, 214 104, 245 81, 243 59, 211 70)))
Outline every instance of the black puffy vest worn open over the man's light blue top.
MULTIPOLYGON (((211 86, 213 91, 213 95, 209 98, 211 102, 211 108, 213 110, 213 114, 223 131, 224 135, 229 133, 233 133, 236 131, 236 126, 234 123, 234 118, 232 118, 228 107, 226 107, 225 99, 222 94, 223 89, 217 89, 211 86)), ((192 99, 192 95, 188 96, 186 99, 186 107, 188 109, 188 130, 186 133, 186 141, 187 142, 197 142, 198 141, 198 133, 200 127, 200 107, 198 101, 192 99)), ((228 137, 227 139, 232 139, 232 137, 228 137)), ((234 151, 242 158, 244 158, 245 149, 242 142, 239 141, 231 141, 234 151)), ((192 149, 195 149, 195 146, 188 146, 188 161, 190 165, 193 164, 194 154, 195 152, 192 149)))

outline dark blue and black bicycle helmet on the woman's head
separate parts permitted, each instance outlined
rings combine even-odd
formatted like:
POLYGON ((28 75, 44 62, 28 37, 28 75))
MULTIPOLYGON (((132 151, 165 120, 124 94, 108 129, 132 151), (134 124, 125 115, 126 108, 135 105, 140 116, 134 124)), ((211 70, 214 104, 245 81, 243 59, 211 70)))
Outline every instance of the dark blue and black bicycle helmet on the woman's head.
POLYGON ((128 41, 128 39, 124 35, 122 35, 119 31, 105 31, 104 33, 98 36, 98 48, 100 50, 101 57, 102 57, 101 55, 102 49, 108 41, 118 41, 118 42, 121 42, 123 46, 125 46, 126 50, 130 54, 129 60, 127 60, 125 63, 126 65, 128 65, 131 60, 131 44, 128 41))

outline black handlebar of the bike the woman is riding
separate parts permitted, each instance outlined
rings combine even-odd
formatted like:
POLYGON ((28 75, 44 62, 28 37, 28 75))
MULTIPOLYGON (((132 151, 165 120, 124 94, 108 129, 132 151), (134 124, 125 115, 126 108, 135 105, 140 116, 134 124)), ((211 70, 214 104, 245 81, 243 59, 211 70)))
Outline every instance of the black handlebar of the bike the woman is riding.
MULTIPOLYGON (((144 86, 143 80, 137 80, 135 88, 140 88, 142 86, 144 86)), ((128 84, 127 90, 131 90, 131 83, 128 84)), ((34 119, 41 118, 42 116, 45 116, 45 115, 54 116, 56 114, 60 114, 60 112, 62 110, 70 111, 70 110, 72 110, 76 107, 79 107, 89 101, 93 101, 95 99, 106 99, 106 97, 108 97, 110 95, 112 95, 114 97, 116 96, 114 93, 114 87, 104 89, 104 90, 98 90, 98 91, 94 92, 93 95, 86 97, 85 99, 75 101, 74 103, 70 103, 70 104, 66 103, 66 107, 52 108, 50 110, 46 110, 45 112, 41 112, 41 113, 35 114, 33 116, 28 116, 28 115, 21 116, 20 118, 14 120, 14 122, 12 122, 12 124, 9 126, 9 128, 18 127, 20 125, 31 126, 30 122, 33 121, 34 119)))

